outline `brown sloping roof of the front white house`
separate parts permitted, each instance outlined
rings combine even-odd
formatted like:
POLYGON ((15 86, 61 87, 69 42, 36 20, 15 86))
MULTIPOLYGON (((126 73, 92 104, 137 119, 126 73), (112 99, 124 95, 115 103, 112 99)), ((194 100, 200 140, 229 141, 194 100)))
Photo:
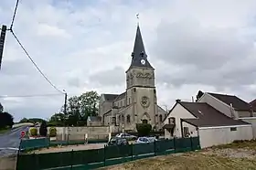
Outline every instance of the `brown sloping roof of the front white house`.
POLYGON ((196 125, 197 127, 229 126, 250 124, 240 120, 229 118, 224 113, 219 112, 206 102, 185 102, 178 101, 188 112, 191 112, 195 119, 182 119, 185 122, 196 125))

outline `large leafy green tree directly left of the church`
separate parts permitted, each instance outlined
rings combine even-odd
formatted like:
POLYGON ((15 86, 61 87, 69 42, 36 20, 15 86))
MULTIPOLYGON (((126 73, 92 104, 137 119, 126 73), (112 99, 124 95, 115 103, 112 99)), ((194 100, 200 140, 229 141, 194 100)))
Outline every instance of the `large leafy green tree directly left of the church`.
POLYGON ((88 116, 98 114, 99 100, 99 94, 93 90, 70 97, 65 115, 67 125, 86 125, 88 116))

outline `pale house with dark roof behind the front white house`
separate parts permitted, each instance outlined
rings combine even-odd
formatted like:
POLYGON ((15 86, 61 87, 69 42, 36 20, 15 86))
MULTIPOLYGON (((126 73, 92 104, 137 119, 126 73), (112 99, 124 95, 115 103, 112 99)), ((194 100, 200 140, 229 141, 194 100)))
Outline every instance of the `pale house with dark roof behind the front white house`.
POLYGON ((250 103, 234 95, 204 92, 197 102, 207 102, 219 112, 235 119, 253 117, 256 113, 253 112, 250 103))

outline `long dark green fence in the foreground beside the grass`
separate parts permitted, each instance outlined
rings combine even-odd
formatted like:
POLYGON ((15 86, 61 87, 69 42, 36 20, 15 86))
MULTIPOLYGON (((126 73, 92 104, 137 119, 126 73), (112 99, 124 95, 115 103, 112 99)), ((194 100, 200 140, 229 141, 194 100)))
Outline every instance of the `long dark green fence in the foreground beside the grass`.
POLYGON ((117 165, 144 157, 174 154, 200 149, 198 137, 175 138, 155 143, 136 143, 123 146, 105 146, 101 149, 50 154, 19 154, 17 170, 59 169, 85 170, 106 165, 117 165))

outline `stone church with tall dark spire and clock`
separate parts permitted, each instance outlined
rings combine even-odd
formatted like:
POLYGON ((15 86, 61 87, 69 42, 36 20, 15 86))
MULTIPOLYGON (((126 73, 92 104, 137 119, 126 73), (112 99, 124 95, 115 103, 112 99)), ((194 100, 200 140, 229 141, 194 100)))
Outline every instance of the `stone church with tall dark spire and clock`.
POLYGON ((150 123, 155 130, 161 129, 166 112, 157 105, 155 69, 147 58, 139 26, 132 62, 125 73, 126 90, 122 94, 101 94, 97 120, 119 132, 135 131, 136 123, 150 123))

